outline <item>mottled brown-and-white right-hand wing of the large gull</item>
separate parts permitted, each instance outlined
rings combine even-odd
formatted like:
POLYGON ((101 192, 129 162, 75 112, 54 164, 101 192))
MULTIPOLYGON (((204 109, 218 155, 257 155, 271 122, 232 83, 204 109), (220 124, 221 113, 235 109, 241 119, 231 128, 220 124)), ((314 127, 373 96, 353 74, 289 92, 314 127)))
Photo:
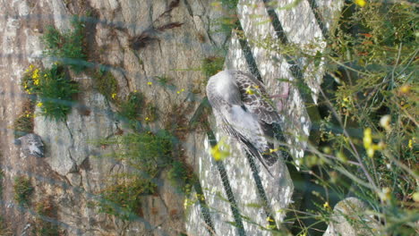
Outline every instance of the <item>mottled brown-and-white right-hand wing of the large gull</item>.
POLYGON ((261 81, 250 74, 239 71, 233 72, 233 76, 235 76, 246 109, 251 111, 252 114, 256 114, 262 122, 269 124, 279 122, 278 113, 271 105, 272 102, 261 81))

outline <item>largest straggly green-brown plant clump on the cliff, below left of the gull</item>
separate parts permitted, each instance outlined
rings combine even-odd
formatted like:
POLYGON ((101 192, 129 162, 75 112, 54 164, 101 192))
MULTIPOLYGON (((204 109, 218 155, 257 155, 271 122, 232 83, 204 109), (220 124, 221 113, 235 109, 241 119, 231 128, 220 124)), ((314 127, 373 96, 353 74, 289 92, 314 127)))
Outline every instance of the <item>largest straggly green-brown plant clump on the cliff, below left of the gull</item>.
POLYGON ((117 145, 115 156, 124 160, 133 173, 114 176, 116 184, 100 192, 100 211, 129 219, 139 215, 143 195, 155 193, 154 179, 160 170, 172 162, 174 147, 172 137, 166 131, 150 131, 125 134, 115 139, 107 139, 102 144, 117 145))

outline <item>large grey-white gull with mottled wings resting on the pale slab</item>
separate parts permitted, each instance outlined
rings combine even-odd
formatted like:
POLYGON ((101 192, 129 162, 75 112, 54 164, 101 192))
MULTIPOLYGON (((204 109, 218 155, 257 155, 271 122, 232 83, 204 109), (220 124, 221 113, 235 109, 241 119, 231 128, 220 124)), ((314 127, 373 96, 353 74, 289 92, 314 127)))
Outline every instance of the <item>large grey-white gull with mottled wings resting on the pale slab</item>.
POLYGON ((271 138, 279 115, 261 81, 241 71, 218 72, 209 78, 207 97, 218 126, 269 172, 268 166, 278 160, 271 138))

